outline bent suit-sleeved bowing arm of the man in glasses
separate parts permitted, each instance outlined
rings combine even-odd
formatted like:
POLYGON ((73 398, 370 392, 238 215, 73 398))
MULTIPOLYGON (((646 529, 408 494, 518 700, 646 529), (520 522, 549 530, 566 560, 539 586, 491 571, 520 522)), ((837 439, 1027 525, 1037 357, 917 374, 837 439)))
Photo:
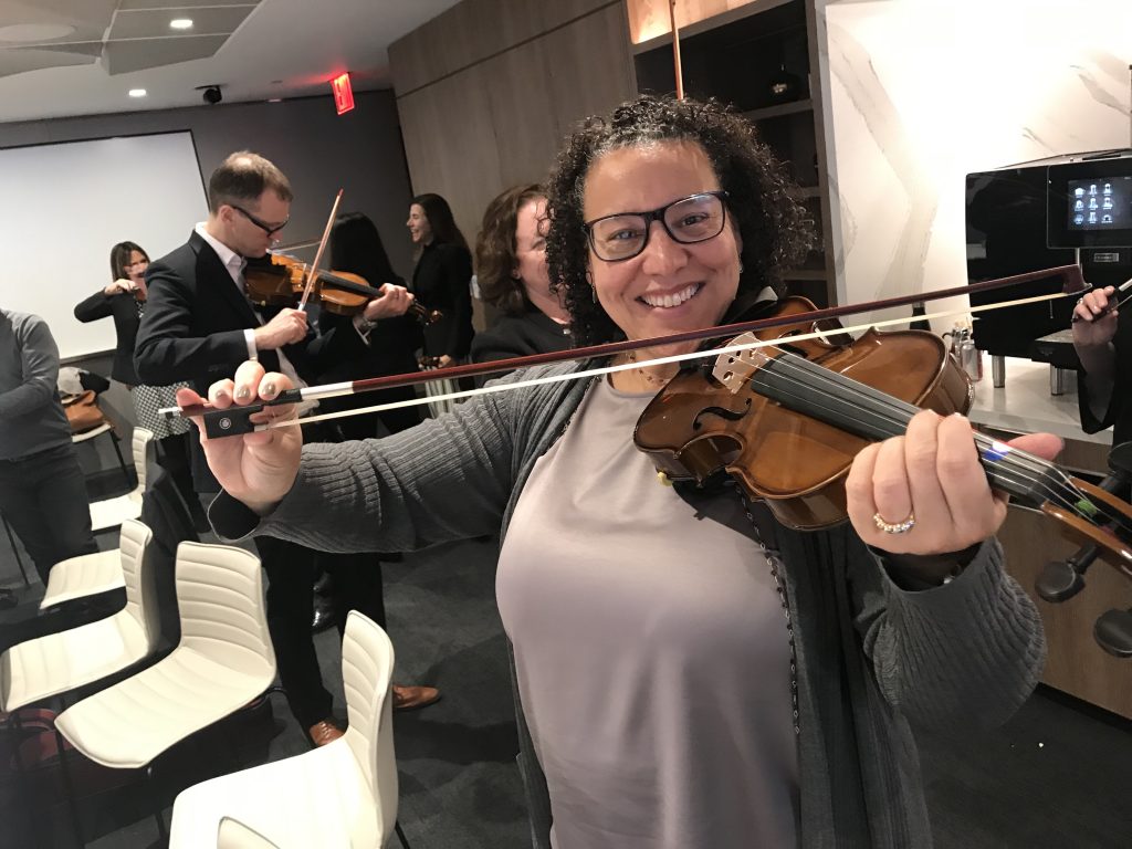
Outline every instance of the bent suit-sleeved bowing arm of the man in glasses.
POLYGON ((190 291, 164 265, 149 266, 148 297, 134 349, 134 367, 143 383, 168 386, 180 380, 220 378, 248 358, 245 331, 190 336, 190 291))

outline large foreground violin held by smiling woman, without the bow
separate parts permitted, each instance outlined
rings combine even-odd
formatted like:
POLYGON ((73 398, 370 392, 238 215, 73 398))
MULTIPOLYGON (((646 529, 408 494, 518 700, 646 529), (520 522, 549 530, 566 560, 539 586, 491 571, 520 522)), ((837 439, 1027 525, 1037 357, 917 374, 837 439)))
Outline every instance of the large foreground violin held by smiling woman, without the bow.
MULTIPOLYGON (((904 432, 921 409, 966 413, 975 393, 943 340, 928 331, 869 329, 854 340, 815 327, 804 298, 778 303, 795 324, 731 340, 746 348, 681 369, 645 408, 634 443, 674 482, 730 475, 782 524, 846 521, 844 479, 871 441, 904 432)), ((990 486, 1060 523, 1132 577, 1132 508, 1053 463, 975 435, 990 486)))

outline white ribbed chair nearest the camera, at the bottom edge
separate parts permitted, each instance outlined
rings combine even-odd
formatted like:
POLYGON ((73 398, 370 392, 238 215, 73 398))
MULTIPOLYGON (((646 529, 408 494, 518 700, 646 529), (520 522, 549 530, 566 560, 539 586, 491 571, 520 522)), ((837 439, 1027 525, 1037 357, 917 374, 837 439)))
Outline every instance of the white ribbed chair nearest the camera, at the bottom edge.
POLYGON ((395 830, 404 842, 396 825, 392 674, 388 636, 371 619, 352 610, 342 642, 342 680, 350 715, 345 735, 302 755, 221 775, 182 791, 173 805, 170 849, 212 849, 218 844, 379 849, 395 830), (224 825, 225 817, 234 823, 224 825), (217 835, 225 842, 218 843, 217 835), (240 840, 243 842, 237 842, 240 840))

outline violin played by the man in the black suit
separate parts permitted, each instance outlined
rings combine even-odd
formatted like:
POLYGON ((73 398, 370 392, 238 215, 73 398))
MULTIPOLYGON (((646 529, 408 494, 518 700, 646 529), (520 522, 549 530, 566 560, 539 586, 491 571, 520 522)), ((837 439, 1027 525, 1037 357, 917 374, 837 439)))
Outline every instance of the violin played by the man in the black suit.
MULTIPOLYGON (((245 271, 248 299, 264 307, 294 307, 302 300, 309 272, 310 267, 306 263, 272 254, 268 263, 256 263, 245 271)), ((315 273, 311 297, 317 298, 321 308, 328 312, 357 316, 366 310, 371 300, 380 298, 381 291, 369 285, 361 275, 351 272, 319 271, 315 273)), ((444 318, 438 310, 428 309, 415 300, 409 308, 409 314, 424 325, 444 318)))

